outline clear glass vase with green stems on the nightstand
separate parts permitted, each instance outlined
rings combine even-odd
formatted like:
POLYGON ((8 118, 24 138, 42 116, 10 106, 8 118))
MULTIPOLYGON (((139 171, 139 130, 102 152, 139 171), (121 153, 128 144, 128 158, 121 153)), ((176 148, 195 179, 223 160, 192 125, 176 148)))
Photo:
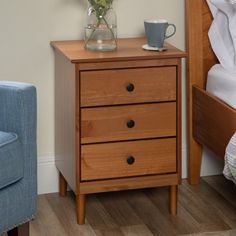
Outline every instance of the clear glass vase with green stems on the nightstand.
POLYGON ((112 5, 99 11, 89 6, 85 26, 85 48, 96 51, 112 51, 117 48, 116 13, 112 5))

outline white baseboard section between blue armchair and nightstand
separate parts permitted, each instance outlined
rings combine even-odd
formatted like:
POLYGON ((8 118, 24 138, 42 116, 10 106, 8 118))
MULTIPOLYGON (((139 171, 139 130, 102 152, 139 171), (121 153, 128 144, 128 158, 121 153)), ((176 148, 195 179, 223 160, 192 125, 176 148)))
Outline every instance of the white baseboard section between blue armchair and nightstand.
POLYGON ((54 156, 38 156, 38 194, 58 192, 58 170, 54 156))

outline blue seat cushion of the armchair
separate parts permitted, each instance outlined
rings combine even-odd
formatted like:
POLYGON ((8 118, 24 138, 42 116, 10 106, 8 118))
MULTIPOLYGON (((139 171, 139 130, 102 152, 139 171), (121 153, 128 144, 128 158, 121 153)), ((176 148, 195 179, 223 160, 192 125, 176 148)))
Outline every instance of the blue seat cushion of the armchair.
POLYGON ((0 131, 0 189, 23 178, 22 147, 15 133, 0 131))

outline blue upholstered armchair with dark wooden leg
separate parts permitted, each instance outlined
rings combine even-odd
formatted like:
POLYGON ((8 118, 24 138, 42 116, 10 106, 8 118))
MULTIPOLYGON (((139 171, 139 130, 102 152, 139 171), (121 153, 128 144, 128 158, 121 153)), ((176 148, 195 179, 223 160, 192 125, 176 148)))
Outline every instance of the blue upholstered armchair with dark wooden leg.
POLYGON ((0 234, 29 235, 36 213, 36 89, 0 81, 0 234))

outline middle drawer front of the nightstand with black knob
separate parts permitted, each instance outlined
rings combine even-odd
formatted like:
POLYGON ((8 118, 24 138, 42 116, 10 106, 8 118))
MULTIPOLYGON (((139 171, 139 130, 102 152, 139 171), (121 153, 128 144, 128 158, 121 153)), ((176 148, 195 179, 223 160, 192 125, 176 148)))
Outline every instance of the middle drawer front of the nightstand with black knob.
POLYGON ((84 108, 81 111, 82 144, 175 135, 175 102, 84 108))

